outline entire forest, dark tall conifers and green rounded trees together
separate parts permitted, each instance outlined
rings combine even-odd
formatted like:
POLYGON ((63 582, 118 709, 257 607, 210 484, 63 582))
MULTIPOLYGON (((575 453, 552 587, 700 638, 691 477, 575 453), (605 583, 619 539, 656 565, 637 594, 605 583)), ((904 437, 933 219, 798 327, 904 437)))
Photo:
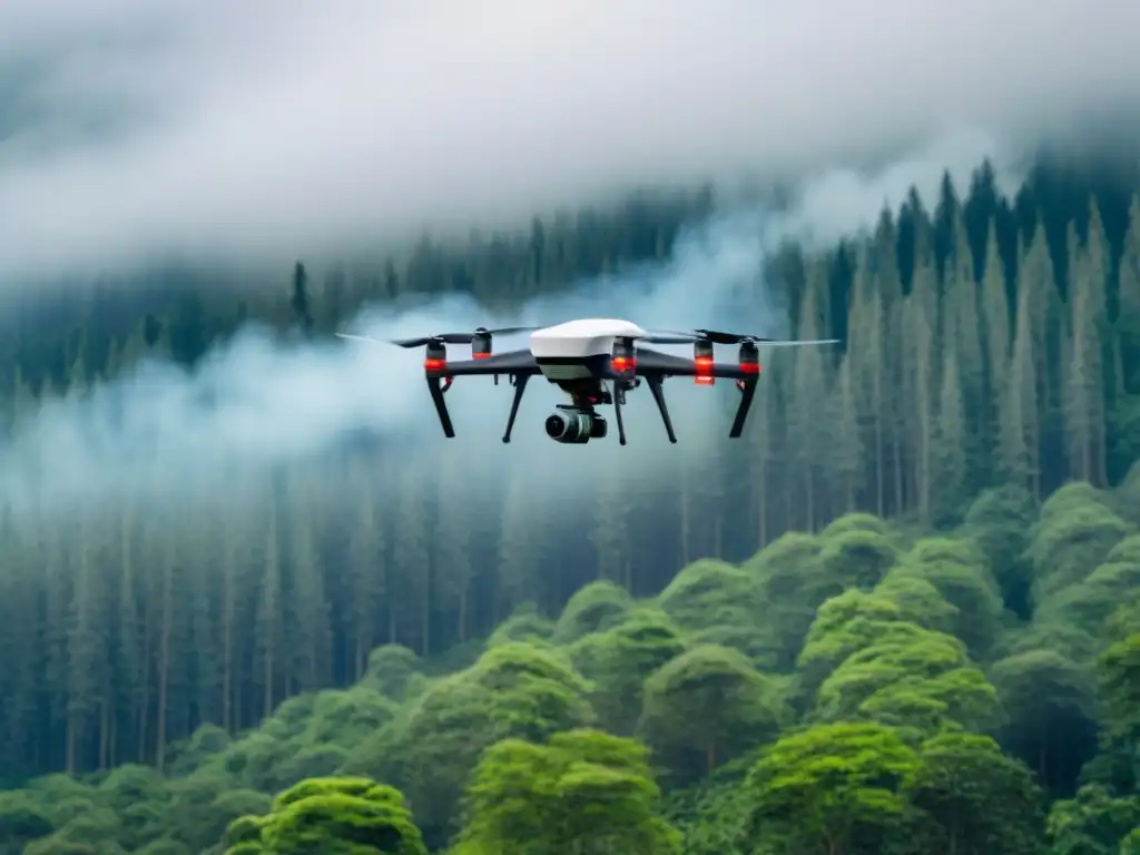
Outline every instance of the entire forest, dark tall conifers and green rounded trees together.
MULTIPOLYGON (((382 443, 5 497, 0 853, 1140 854, 1138 193, 982 164, 784 246, 758 287, 844 347, 773 353, 744 439, 603 463, 561 526, 534 466, 382 443)), ((653 263, 715 207, 16 302, 3 423, 249 320, 653 263)))

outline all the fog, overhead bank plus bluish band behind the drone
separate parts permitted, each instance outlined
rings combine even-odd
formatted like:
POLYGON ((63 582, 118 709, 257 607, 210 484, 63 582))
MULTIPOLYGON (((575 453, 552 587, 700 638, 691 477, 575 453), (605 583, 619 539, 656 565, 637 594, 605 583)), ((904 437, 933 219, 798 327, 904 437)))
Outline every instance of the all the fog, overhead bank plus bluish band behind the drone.
MULTIPOLYGON (((1138 31, 1140 7, 1110 0, 8 3, 0 284, 171 252, 290 263, 630 187, 715 179, 731 201, 747 178, 790 181, 790 210, 726 203, 665 263, 510 315, 451 298, 353 326, 383 339, 624 316, 779 335, 785 307, 762 277, 776 241, 831 241, 911 185, 933 198, 944 169, 962 186, 985 156, 1011 185, 1036 141, 1131 106, 1138 31)), ((142 483, 223 496, 237 462, 277 466, 360 435, 388 446, 397 475, 562 490, 598 473, 673 489, 662 461, 747 455, 727 440, 732 384, 683 380, 666 386, 676 447, 645 389, 629 446, 612 418, 602 442, 556 446, 539 424, 562 397, 542 381, 504 446, 512 390, 489 378, 456 382, 446 440, 421 359, 250 328, 193 373, 147 363, 49 404, 0 446, 0 487, 17 506, 142 483)))

